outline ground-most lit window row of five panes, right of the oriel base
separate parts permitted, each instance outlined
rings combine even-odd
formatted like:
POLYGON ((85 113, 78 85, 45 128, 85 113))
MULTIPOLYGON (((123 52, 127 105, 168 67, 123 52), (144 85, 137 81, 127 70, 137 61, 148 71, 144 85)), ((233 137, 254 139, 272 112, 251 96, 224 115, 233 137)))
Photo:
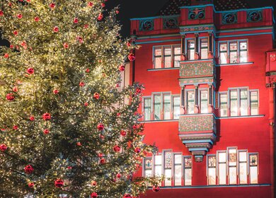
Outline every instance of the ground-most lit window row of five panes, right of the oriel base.
POLYGON ((217 156, 207 155, 207 183, 208 185, 257 184, 258 153, 227 148, 227 151, 218 151, 217 156))

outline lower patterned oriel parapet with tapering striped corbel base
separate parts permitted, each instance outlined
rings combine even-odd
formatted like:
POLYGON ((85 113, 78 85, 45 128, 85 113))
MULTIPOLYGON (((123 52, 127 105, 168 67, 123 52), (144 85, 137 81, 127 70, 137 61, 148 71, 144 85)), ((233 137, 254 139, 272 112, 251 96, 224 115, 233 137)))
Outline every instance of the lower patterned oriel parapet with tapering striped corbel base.
POLYGON ((178 135, 195 156, 195 161, 202 162, 203 156, 216 141, 216 117, 212 113, 180 115, 178 135))

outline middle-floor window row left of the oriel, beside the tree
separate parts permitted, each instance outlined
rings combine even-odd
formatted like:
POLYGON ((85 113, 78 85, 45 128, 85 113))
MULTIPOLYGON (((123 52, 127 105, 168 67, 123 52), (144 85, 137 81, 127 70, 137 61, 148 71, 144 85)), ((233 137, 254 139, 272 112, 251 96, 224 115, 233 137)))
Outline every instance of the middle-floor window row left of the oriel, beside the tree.
POLYGON ((154 93, 143 97, 144 121, 178 119, 180 115, 180 95, 154 93), (152 115, 152 116, 151 116, 152 115))

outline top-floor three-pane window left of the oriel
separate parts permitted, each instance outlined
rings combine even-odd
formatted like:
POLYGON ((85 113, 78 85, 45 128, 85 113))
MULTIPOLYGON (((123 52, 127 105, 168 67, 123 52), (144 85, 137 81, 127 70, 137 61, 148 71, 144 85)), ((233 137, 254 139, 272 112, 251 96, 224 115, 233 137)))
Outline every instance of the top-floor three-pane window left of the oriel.
POLYGON ((154 69, 179 67, 180 45, 154 47, 154 69))

